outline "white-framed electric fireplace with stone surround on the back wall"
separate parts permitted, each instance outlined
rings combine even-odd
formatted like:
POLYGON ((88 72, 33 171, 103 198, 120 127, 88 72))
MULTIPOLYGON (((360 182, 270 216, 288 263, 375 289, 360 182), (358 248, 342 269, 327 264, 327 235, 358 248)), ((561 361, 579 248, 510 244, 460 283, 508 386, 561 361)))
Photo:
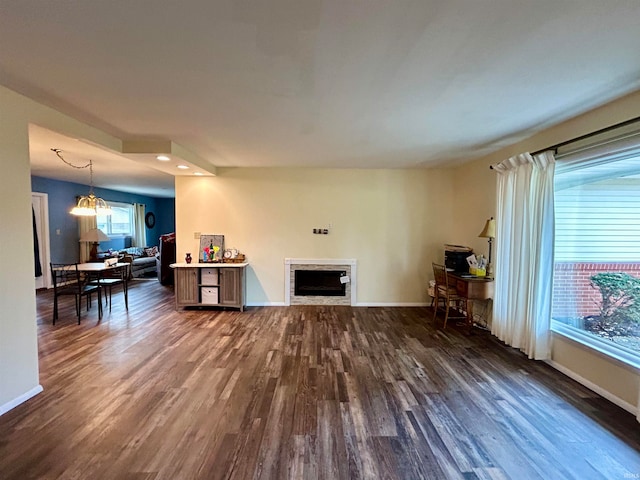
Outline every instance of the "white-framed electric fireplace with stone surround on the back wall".
POLYGON ((285 305, 356 305, 354 258, 285 258, 285 305))

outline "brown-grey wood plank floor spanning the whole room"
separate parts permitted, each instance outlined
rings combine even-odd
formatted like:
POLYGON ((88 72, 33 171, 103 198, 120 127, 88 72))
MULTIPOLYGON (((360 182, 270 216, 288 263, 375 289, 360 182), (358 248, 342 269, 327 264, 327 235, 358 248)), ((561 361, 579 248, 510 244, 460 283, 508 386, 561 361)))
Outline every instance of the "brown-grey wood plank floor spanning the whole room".
POLYGON ((632 415, 427 308, 113 299, 52 326, 38 294, 44 392, 0 417, 1 479, 640 477, 632 415))

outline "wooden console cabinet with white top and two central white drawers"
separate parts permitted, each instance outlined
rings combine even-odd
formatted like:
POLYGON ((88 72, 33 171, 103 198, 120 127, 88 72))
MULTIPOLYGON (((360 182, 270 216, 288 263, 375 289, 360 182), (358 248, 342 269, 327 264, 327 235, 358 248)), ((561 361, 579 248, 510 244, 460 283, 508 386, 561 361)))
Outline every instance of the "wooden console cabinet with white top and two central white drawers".
POLYGON ((232 307, 244 310, 247 263, 174 263, 176 309, 232 307))

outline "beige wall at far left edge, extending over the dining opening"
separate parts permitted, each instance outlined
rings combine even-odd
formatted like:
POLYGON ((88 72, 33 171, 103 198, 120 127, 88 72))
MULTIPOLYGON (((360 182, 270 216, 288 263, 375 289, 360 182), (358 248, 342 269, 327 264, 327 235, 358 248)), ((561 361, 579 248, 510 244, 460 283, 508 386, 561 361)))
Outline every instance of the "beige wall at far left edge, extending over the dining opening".
POLYGON ((119 140, 0 86, 0 414, 38 393, 28 126, 118 149, 119 140))

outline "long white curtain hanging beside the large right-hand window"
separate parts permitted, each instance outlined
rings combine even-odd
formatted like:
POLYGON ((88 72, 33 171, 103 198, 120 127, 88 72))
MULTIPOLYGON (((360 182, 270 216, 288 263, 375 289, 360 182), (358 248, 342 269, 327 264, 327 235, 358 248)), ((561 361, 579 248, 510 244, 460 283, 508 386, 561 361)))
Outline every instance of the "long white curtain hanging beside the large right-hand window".
POLYGON ((552 152, 522 153, 494 165, 498 212, 491 332, 536 360, 550 355, 554 168, 552 152))

